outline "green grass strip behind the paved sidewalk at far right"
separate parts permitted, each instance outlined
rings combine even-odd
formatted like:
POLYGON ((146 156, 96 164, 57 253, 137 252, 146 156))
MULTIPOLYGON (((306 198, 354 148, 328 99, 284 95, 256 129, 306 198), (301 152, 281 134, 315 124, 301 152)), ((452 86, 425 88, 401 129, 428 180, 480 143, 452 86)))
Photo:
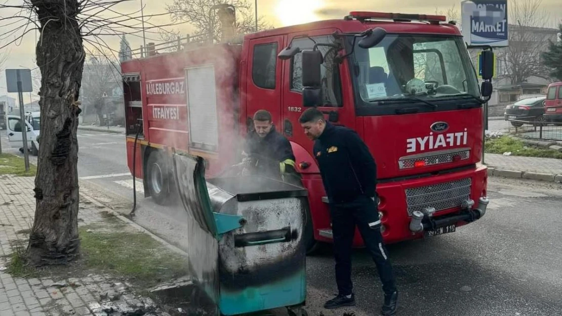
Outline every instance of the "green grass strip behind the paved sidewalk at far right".
POLYGON ((558 152, 558 150, 525 145, 523 141, 509 136, 487 139, 484 150, 486 153, 491 154, 511 152, 511 155, 514 156, 562 159, 562 153, 558 152))

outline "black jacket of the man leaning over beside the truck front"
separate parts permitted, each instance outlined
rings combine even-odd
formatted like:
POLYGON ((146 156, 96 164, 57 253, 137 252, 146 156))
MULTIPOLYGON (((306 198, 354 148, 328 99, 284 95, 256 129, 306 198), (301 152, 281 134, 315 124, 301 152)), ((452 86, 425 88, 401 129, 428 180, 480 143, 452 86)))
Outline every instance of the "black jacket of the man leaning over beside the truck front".
POLYGON ((327 122, 314 143, 314 155, 330 203, 376 196, 377 166, 355 131, 327 122))

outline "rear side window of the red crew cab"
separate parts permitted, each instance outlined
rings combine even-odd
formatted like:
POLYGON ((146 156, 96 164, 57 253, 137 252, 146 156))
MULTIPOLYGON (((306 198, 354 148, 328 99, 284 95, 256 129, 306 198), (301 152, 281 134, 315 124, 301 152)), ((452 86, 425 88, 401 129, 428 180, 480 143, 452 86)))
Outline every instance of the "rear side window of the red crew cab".
POLYGON ((253 84, 264 89, 275 89, 275 68, 277 67, 277 42, 253 47, 253 84))

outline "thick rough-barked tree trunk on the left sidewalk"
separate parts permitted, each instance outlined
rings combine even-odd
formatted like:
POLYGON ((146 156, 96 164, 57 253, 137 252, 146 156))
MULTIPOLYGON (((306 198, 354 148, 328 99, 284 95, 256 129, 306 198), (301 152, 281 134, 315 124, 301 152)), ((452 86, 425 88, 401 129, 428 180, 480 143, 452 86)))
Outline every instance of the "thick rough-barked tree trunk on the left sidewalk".
POLYGON ((40 22, 37 66, 41 140, 35 177, 35 219, 28 259, 33 265, 62 264, 79 254, 78 96, 84 46, 78 0, 30 0, 40 22))

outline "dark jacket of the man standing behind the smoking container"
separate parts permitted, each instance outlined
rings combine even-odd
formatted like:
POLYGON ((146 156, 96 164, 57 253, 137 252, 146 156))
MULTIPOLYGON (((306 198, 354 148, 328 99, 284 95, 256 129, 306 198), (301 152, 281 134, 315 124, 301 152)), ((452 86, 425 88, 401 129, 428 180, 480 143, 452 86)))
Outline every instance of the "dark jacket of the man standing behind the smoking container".
MULTIPOLYGON (((294 163, 291 143, 285 136, 279 134, 275 127, 264 138, 251 131, 246 137, 244 152, 252 159, 255 172, 275 178, 280 177, 280 162, 291 159, 294 163)), ((288 171, 292 170, 290 168, 288 171)))

